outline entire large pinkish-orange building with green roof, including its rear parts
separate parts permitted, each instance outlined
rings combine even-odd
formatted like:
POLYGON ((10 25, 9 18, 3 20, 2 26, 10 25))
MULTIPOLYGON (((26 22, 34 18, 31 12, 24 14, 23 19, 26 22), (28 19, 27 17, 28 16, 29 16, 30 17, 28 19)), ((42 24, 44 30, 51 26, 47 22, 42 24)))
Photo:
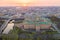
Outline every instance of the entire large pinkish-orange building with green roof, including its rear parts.
POLYGON ((36 31, 40 31, 40 29, 50 29, 51 21, 48 18, 32 16, 25 18, 23 25, 24 29, 35 29, 36 31))

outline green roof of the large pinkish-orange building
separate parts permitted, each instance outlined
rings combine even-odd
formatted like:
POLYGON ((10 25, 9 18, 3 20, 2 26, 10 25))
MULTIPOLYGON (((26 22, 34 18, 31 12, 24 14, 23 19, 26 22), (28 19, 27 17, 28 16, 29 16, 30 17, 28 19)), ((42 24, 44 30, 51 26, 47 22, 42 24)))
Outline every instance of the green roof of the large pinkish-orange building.
POLYGON ((24 24, 34 24, 34 25, 41 25, 41 24, 45 24, 45 25, 49 25, 51 24, 51 21, 48 18, 40 18, 41 20, 25 20, 24 24))

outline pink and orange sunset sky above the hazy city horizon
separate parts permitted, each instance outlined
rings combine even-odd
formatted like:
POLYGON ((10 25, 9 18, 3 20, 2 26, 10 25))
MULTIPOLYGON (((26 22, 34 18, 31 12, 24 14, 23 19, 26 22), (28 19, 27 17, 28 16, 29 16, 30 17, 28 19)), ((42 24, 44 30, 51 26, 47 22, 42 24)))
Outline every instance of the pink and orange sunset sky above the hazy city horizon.
POLYGON ((0 0, 0 6, 60 6, 60 0, 0 0))

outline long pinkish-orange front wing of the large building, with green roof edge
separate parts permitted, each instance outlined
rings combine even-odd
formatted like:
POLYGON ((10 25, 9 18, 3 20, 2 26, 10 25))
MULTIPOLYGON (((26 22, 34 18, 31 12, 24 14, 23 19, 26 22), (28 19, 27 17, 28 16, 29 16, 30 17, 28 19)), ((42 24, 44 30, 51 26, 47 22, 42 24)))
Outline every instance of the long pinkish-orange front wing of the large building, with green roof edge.
POLYGON ((40 30, 40 29, 49 29, 51 24, 49 24, 48 22, 27 22, 24 23, 24 29, 36 29, 40 30))

